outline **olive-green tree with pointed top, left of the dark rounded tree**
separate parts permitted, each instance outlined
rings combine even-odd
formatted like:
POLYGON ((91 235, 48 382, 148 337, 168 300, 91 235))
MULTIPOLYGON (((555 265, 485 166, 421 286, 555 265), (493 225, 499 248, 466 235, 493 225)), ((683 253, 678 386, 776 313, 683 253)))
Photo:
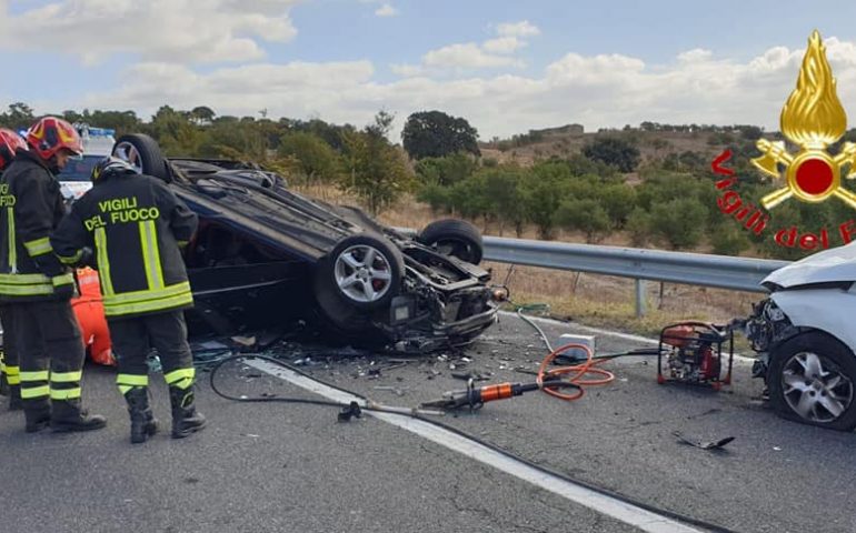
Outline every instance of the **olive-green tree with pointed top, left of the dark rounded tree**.
POLYGON ((342 188, 360 197, 372 215, 410 190, 414 177, 405 154, 389 143, 387 134, 394 117, 386 111, 360 132, 342 132, 348 174, 342 188))

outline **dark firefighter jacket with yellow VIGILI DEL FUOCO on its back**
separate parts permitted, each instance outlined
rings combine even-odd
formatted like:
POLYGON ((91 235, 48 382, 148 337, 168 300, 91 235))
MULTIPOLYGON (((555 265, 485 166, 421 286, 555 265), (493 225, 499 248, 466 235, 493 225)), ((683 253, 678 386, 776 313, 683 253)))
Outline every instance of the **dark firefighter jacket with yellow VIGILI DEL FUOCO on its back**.
POLYGON ((51 243, 60 260, 94 251, 104 314, 111 319, 192 306, 179 243, 197 217, 157 178, 109 174, 71 207, 51 243))

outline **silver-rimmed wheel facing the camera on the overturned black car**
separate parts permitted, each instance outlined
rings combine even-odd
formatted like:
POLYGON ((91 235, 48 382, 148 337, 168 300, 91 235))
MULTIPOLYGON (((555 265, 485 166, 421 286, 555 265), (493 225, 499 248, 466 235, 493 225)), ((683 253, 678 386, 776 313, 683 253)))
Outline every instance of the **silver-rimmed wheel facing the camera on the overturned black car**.
MULTIPOLYGON (((351 235, 339 242, 317 270, 318 295, 359 311, 389 304, 401 286, 405 260, 398 248, 376 234, 351 235)), ((331 306, 332 311, 337 311, 331 306)))

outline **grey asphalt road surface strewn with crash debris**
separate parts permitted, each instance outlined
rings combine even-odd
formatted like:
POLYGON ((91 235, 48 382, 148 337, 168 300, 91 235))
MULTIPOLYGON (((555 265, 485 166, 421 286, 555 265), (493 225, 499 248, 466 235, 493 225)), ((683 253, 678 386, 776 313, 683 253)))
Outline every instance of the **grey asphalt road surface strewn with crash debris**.
MULTIPOLYGON (((554 338, 579 332, 541 325, 554 338)), ((643 345, 597 338, 600 353, 643 345)), ((536 369, 544 352, 532 329, 510 315, 464 353, 407 363, 296 344, 276 350, 289 362, 310 356, 300 368, 325 382, 405 406, 460 389, 452 372, 530 381, 516 369, 536 369)), ((607 368, 617 380, 576 402, 532 392, 444 422, 571 477, 734 531, 856 531, 856 435, 776 418, 753 399, 760 384, 745 363, 720 393, 657 385, 654 366, 639 359, 607 368), (674 431, 736 439, 709 452, 679 443, 674 431)), ((84 379, 87 403, 110 419, 103 431, 28 435, 20 414, 0 413, 0 530, 636 531, 371 416, 338 423, 329 408, 233 403, 213 395, 202 376, 199 404, 210 428, 183 441, 162 433, 131 446, 109 369, 90 368, 84 379)), ((165 386, 152 381, 156 410, 168 422, 165 386)), ((237 394, 317 399, 242 364, 226 369, 220 383, 237 394)))

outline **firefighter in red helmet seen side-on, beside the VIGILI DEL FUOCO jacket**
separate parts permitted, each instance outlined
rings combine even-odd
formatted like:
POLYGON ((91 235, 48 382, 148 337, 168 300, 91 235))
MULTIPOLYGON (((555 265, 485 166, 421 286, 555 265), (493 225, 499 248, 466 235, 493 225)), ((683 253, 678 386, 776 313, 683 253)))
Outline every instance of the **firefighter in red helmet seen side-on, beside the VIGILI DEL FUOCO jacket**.
POLYGON ((80 400, 84 352, 69 304, 74 279, 49 240, 66 212, 56 175, 83 147, 71 124, 53 117, 30 128, 27 144, 0 180, 0 300, 12 314, 26 429, 98 430, 107 421, 80 400))

